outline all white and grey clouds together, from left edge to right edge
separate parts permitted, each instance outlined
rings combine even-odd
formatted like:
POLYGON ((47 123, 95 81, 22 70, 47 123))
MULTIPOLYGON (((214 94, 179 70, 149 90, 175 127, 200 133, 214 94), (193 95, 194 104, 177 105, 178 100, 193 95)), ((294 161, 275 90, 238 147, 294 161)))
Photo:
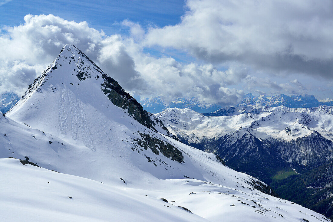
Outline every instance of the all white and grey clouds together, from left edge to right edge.
POLYGON ((227 106, 237 104, 244 91, 304 94, 310 90, 303 85, 304 74, 332 83, 333 2, 188 0, 186 7, 173 26, 142 27, 124 20, 126 36, 107 35, 84 21, 26 15, 24 24, 0 30, 0 94, 22 95, 67 43, 131 94, 159 96, 165 103, 194 97, 227 106), (161 55, 176 49, 195 59, 177 62, 150 55, 150 48, 161 55))

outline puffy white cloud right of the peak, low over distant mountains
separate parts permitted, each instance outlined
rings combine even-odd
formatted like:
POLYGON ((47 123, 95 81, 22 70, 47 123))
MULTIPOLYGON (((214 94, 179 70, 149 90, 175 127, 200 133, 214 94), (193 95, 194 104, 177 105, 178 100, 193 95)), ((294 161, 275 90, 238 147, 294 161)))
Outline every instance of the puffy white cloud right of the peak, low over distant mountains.
POLYGON ((227 86, 236 84, 246 76, 247 70, 230 68, 219 71, 211 64, 180 64, 173 58, 136 58, 137 70, 151 83, 147 90, 141 90, 143 97, 159 95, 167 104, 177 97, 198 98, 203 104, 230 105, 239 102, 242 90, 227 86))

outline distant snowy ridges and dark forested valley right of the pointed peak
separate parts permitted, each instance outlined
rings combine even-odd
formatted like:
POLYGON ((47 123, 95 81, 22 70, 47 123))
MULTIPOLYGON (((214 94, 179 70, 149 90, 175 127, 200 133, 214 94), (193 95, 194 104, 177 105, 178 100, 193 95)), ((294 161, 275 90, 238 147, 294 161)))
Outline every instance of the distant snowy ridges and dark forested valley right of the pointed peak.
POLYGON ((276 97, 263 99, 270 106, 244 100, 211 113, 167 108, 157 116, 181 142, 215 153, 280 197, 332 217, 333 107, 272 107, 276 97))

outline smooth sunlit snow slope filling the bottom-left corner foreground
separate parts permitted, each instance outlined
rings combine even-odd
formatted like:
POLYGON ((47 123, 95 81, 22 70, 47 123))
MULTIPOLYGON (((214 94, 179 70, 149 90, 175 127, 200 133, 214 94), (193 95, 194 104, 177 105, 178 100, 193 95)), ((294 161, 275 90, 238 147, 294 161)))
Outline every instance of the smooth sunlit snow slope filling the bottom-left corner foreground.
POLYGON ((161 199, 133 194, 121 183, 110 186, 23 165, 17 159, 0 159, 0 174, 2 221, 157 221, 161 217, 207 221, 161 199))

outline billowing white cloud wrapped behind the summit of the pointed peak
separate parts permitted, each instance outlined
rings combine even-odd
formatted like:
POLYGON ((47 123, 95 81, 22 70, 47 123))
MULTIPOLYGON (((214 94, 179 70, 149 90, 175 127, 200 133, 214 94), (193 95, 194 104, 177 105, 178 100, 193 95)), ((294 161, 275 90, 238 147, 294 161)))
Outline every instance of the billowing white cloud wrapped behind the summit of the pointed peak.
MULTIPOLYGON (((24 24, 4 27, 0 36, 0 91, 22 95, 32 80, 59 54, 74 44, 96 61, 121 85, 133 87, 140 78, 120 35, 107 36, 87 22, 74 22, 54 15, 26 15, 24 24)), ((0 92, 1 93, 1 92, 0 92)))

